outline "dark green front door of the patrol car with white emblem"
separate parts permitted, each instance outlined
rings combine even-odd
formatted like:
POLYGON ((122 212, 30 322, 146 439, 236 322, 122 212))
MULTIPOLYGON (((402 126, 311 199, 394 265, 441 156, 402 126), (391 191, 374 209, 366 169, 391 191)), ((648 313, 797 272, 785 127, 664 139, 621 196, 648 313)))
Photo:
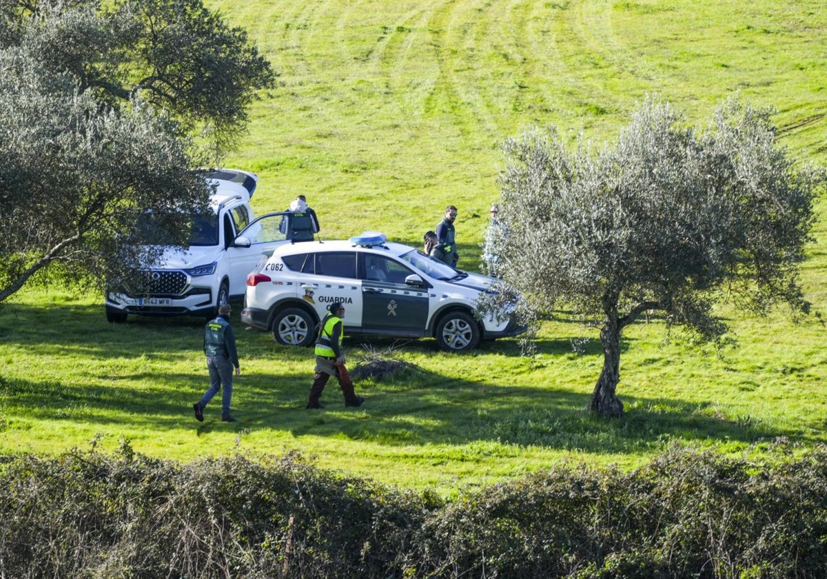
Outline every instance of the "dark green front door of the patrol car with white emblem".
POLYGON ((390 257, 360 254, 362 329, 387 335, 423 336, 428 323, 428 288, 405 284, 413 275, 390 257))

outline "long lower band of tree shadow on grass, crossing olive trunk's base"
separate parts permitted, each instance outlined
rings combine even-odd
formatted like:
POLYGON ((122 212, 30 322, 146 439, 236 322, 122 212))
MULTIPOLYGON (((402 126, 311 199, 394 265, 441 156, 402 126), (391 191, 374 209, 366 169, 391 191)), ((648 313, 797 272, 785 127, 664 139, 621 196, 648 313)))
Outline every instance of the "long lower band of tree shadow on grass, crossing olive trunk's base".
MULTIPOLYGON (((327 408, 305 410, 310 377, 309 372, 307 376, 259 374, 238 380, 233 405, 241 422, 232 428, 284 430, 294 437, 344 437, 390 447, 496 441, 599 453, 646 452, 662 447, 664 438, 684 443, 710 439, 754 443, 790 435, 762 423, 706 414, 713 401, 625 399, 631 408, 624 419, 606 420, 586 412, 588 395, 519 384, 447 380, 428 373, 418 373, 414 380, 421 380, 421 386, 357 385, 357 391, 367 398, 360 409, 346 408, 336 381, 330 380, 323 396, 327 408)), ((22 415, 36 419, 159 433, 182 425, 201 431, 219 424, 220 394, 205 410, 205 423, 193 417, 191 404, 206 389, 206 376, 198 390, 194 390, 193 376, 167 378, 173 384, 187 383, 189 395, 175 400, 169 388, 134 390, 27 380, 3 380, 2 390, 22 415)), ((8 414, 6 422, 7 428, 13 428, 8 414)))

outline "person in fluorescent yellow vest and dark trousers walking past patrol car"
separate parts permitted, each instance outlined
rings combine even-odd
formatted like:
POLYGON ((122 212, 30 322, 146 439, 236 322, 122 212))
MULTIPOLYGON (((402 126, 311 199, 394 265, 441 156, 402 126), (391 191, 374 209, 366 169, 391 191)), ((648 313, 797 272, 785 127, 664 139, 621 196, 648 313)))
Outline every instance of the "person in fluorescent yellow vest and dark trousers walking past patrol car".
POLYGON ((345 406, 361 406, 365 399, 353 391, 353 382, 345 370, 345 354, 342 352, 342 338, 345 337, 342 318, 345 315, 345 306, 342 302, 333 302, 327 306, 327 311, 329 313, 319 323, 315 374, 305 408, 323 408, 319 399, 330 376, 336 376, 339 380, 339 386, 345 396, 345 406))

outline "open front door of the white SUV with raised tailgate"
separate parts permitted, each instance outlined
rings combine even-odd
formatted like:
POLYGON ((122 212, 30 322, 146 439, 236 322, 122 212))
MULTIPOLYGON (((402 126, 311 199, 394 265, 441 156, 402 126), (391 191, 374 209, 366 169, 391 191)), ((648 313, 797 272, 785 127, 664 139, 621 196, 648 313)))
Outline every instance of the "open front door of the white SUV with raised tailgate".
POLYGON ((227 247, 230 262, 230 294, 244 294, 247 275, 261 259, 261 252, 284 243, 280 231, 284 213, 267 213, 251 221, 227 247))

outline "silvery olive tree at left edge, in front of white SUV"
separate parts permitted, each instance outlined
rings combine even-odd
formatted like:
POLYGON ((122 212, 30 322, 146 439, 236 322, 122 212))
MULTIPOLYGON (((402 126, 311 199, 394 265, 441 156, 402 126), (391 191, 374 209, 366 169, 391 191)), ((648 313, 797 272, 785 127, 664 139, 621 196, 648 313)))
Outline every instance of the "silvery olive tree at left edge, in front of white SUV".
POLYGON ((206 211, 209 190, 164 114, 140 100, 108 108, 13 51, 0 51, 0 70, 0 302, 47 266, 52 280, 100 287, 137 251, 151 262, 129 233, 146 211, 186 242, 176 209, 206 211))

